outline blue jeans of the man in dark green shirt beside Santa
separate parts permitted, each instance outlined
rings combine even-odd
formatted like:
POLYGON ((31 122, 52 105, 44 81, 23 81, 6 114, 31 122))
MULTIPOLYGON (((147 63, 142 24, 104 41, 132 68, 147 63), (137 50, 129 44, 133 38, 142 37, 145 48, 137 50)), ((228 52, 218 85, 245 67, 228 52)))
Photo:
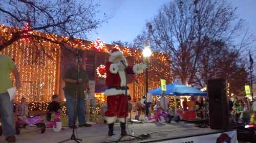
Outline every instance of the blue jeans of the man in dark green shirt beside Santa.
MULTIPOLYGON (((65 92, 65 98, 66 98, 66 106, 67 106, 67 112, 69 117, 69 126, 73 126, 74 113, 75 113, 75 95, 70 95, 69 93, 65 92)), ((84 117, 85 113, 86 113, 86 101, 84 100, 84 97, 78 98, 75 119, 78 117, 79 125, 86 124, 86 118, 84 117)))

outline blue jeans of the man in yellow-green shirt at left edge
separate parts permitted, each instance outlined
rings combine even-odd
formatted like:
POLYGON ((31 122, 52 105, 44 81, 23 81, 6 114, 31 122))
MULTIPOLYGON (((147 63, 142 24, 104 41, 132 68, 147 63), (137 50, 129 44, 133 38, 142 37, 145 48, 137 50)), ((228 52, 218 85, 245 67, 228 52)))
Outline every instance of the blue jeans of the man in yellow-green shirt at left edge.
POLYGON ((10 96, 8 93, 0 94, 0 112, 4 135, 14 135, 15 130, 13 128, 13 102, 10 101, 10 96))

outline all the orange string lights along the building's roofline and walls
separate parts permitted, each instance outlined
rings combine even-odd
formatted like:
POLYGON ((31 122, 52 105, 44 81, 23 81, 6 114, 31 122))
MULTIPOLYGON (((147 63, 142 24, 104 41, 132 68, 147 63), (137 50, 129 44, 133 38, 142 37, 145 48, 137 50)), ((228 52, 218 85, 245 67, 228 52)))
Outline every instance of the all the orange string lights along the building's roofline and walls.
MULTIPOLYGON (((25 26, 25 30, 29 30, 30 27, 25 26)), ((11 28, 4 25, 0 25, 0 36, 3 37, 3 41, 10 40, 12 38, 12 32, 22 31, 22 29, 11 28)), ((46 40, 33 39, 33 35, 38 37, 44 37, 52 41, 59 43, 67 43, 73 48, 81 49, 94 49, 101 52, 109 52, 113 48, 119 49, 125 56, 132 56, 134 64, 143 63, 143 56, 141 49, 131 49, 129 47, 108 46, 102 42, 99 38, 96 41, 84 41, 82 39, 71 39, 69 37, 57 36, 54 34, 40 33, 36 31, 30 31, 27 34, 31 36, 30 39, 20 39, 8 46, 4 50, 0 51, 0 54, 7 54, 15 59, 18 70, 20 71, 20 78, 23 83, 23 87, 18 90, 16 101, 24 96, 27 101, 31 103, 30 110, 40 109, 46 110, 47 105, 53 94, 58 93, 56 89, 59 58, 60 58, 60 46, 46 40)), ((103 65, 101 65, 103 67, 103 65)), ((102 75, 104 77, 104 75, 102 75)), ((132 101, 135 101, 141 96, 145 95, 145 74, 136 74, 140 84, 134 83, 134 94, 132 101)), ((160 79, 166 79, 167 83, 172 82, 170 77, 170 61, 169 55, 163 53, 153 52, 150 57, 150 64, 148 65, 148 89, 152 90, 160 87, 160 79)), ((14 78, 12 77, 14 80, 14 78)), ((96 95, 97 96, 97 95, 96 95)), ((171 99, 169 99, 171 100, 171 99)), ((99 102, 97 100, 97 102, 99 102)), ((95 107, 91 107, 92 112, 99 113, 100 106, 105 102, 96 103, 95 107)), ((173 104, 171 104, 173 105, 173 104)), ((66 110, 66 107, 62 107, 66 110)))

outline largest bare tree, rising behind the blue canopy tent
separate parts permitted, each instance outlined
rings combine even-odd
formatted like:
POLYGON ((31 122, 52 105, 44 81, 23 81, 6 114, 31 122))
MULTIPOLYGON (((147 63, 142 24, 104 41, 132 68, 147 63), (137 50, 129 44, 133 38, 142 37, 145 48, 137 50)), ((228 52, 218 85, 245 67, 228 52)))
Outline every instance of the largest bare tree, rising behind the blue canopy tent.
POLYGON ((204 49, 215 48, 208 47, 209 41, 225 41, 226 47, 237 49, 237 52, 253 41, 235 11, 236 8, 224 0, 174 0, 148 21, 153 25, 152 33, 144 30, 138 38, 150 35, 152 48, 170 55, 172 77, 183 84, 192 84, 197 82, 204 49), (234 42, 238 39, 242 41, 234 42))

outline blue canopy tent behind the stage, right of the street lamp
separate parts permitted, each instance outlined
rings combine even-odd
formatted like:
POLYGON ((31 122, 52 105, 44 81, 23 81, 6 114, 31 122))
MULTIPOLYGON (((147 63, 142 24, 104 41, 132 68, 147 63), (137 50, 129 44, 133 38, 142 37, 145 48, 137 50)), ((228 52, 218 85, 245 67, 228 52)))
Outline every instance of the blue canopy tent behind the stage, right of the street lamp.
MULTIPOLYGON (((166 91, 162 91, 161 87, 151 90, 148 93, 152 95, 167 95, 167 96, 207 96, 206 92, 202 92, 197 88, 188 87, 180 83, 170 83, 166 85, 166 91)), ((176 112, 176 98, 175 98, 175 112, 176 112)))

